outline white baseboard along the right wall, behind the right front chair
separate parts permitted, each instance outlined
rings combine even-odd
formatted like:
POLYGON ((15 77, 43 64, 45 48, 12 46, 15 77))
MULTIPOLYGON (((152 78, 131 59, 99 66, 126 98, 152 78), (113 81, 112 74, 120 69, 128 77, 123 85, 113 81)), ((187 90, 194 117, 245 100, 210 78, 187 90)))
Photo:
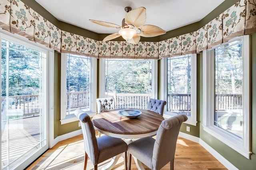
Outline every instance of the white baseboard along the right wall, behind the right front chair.
POLYGON ((205 143, 202 139, 199 137, 195 137, 192 135, 188 135, 187 133, 180 132, 179 137, 182 137, 184 139, 188 139, 190 141, 199 143, 204 149, 206 149, 212 156, 214 156, 220 163, 222 163, 226 168, 229 170, 238 170, 233 164, 231 164, 228 160, 226 160, 221 154, 219 154, 216 150, 212 149, 207 143, 205 143))

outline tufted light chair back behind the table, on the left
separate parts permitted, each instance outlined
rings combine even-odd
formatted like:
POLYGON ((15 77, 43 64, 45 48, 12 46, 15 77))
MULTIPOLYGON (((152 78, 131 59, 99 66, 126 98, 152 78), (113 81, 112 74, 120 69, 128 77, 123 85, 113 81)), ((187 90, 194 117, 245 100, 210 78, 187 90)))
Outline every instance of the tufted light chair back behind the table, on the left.
POLYGON ((98 98, 96 99, 96 103, 97 103, 97 113, 100 113, 104 110, 115 108, 114 98, 98 98))

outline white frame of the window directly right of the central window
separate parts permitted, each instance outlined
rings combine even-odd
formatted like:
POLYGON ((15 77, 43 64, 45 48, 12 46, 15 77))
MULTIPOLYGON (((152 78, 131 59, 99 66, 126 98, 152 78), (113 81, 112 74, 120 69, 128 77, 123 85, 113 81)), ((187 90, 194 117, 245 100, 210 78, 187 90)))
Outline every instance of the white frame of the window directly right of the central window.
MULTIPOLYGON (((196 126, 196 93, 197 93, 197 72, 196 72, 196 54, 191 55, 191 116, 188 116, 188 120, 184 123, 196 126)), ((161 60, 161 100, 167 101, 167 59, 161 60)), ((164 117, 170 118, 177 115, 167 111, 167 108, 164 107, 164 117)))

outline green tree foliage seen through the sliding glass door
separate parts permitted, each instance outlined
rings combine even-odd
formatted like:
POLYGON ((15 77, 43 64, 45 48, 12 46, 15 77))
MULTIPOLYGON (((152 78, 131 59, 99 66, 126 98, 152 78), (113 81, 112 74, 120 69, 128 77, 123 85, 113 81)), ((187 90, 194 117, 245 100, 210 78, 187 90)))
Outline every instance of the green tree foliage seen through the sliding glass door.
POLYGON ((41 52, 3 40, 2 43, 2 96, 39 94, 42 68, 41 52), (9 44, 9 46, 8 46, 9 44), (7 54, 9 54, 7 56, 7 54), (6 60, 7 59, 7 60, 6 60), (8 75, 7 75, 8 74, 8 75), (8 92, 6 91, 8 78, 8 92))

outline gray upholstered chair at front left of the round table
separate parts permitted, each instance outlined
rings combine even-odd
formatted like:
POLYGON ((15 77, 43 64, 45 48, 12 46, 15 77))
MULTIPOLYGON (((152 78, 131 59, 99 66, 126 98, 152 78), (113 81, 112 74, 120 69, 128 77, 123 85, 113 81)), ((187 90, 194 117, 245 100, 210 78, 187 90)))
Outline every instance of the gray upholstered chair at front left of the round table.
POLYGON ((90 116, 81 109, 76 109, 75 115, 80 120, 84 137, 84 170, 88 156, 94 165, 94 170, 97 170, 99 163, 122 153, 125 153, 124 166, 127 170, 127 144, 122 139, 107 135, 96 138, 90 116))

